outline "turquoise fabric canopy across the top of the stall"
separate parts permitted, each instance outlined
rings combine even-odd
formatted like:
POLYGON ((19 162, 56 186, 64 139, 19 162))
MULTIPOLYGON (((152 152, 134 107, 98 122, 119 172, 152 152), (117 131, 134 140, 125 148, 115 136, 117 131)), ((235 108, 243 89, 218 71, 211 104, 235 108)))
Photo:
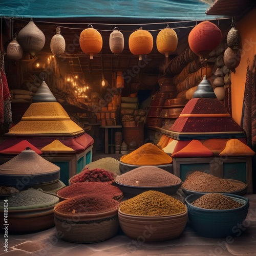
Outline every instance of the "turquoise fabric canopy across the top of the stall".
POLYGON ((45 0, 1 3, 0 15, 4 17, 114 17, 114 18, 168 18, 176 20, 205 19, 205 10, 211 0, 159 0, 159 1, 67 1, 45 0), (207 3, 208 2, 208 3, 207 3))

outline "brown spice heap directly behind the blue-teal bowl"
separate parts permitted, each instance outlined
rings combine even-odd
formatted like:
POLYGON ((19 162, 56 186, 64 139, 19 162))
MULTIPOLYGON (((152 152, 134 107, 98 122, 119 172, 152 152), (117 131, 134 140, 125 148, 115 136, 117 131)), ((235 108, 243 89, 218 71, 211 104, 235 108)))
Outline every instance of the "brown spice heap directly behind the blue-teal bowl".
MULTIPOLYGON (((245 185, 246 186, 246 185, 245 185)), ((244 187, 245 187, 244 186, 244 187)), ((231 193, 241 189, 241 186, 221 179, 211 174, 196 171, 189 174, 182 183, 181 188, 199 192, 231 193)))

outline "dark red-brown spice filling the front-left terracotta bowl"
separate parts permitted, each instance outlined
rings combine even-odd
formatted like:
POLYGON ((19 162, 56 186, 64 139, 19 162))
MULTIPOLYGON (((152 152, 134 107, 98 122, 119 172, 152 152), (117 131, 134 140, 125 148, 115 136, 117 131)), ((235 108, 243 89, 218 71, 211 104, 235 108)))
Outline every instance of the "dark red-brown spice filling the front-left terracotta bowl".
POLYGON ((81 195, 57 204, 55 211, 65 215, 100 214, 117 209, 119 202, 102 195, 81 195))

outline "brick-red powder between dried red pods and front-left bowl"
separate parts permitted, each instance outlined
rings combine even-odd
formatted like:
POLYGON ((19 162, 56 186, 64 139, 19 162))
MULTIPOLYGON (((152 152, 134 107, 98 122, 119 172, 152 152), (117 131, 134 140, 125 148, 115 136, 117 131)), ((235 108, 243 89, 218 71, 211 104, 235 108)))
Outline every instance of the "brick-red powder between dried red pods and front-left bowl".
POLYGON ((115 200, 119 200, 123 196, 122 191, 118 187, 104 182, 76 182, 57 192, 57 195, 62 199, 92 194, 102 195, 115 200))

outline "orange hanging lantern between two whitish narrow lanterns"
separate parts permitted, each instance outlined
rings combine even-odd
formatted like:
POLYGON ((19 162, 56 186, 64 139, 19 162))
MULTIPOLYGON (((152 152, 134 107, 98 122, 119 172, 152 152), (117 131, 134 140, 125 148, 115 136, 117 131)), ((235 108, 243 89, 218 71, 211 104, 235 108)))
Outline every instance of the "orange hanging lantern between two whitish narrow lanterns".
POLYGON ((93 27, 84 29, 79 38, 79 44, 82 51, 90 55, 90 59, 93 59, 94 54, 98 54, 102 49, 102 36, 93 27))

